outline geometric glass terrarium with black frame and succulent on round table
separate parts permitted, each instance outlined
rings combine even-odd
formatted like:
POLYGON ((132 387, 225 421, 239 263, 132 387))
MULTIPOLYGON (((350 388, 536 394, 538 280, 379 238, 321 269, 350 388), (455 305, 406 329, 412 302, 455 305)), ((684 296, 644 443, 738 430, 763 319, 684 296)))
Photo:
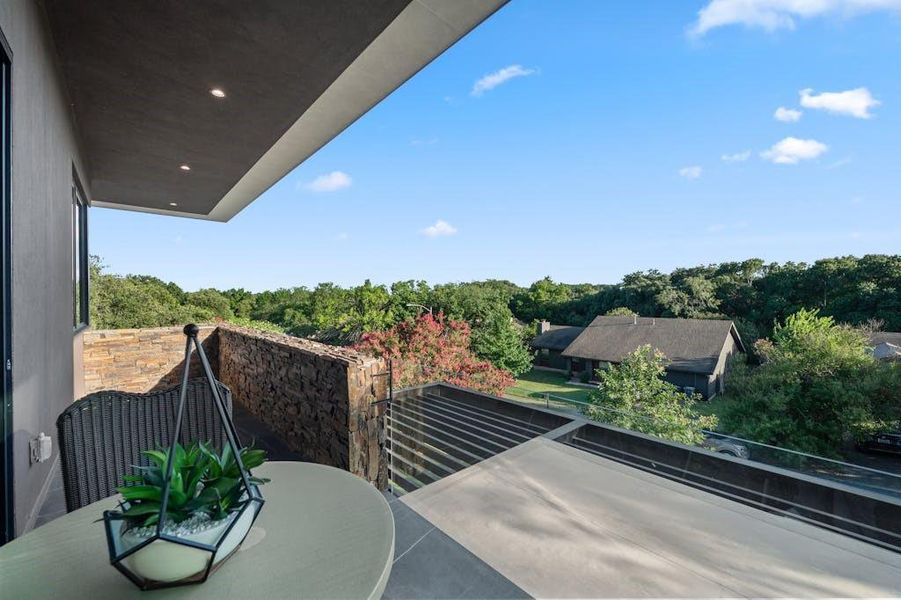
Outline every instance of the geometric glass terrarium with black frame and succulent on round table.
POLYGON ((238 549, 263 506, 250 468, 262 450, 241 448, 219 393, 198 327, 186 325, 184 374, 168 449, 148 449, 150 464, 135 467, 118 488, 119 510, 104 511, 110 562, 141 589, 202 583, 238 549), (196 350, 223 428, 221 448, 180 443, 191 356, 196 350))

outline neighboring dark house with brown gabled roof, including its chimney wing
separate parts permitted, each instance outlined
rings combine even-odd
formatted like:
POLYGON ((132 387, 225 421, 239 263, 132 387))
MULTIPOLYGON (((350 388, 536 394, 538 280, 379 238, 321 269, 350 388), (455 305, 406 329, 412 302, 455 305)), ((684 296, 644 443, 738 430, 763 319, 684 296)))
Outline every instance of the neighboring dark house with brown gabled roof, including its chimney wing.
POLYGON ((693 388, 704 398, 723 391, 729 358, 745 351, 732 321, 715 319, 597 317, 585 328, 548 325, 533 342, 538 349, 537 366, 545 366, 539 362, 542 359, 565 361, 561 368, 572 377, 590 379, 598 369, 621 362, 644 345, 666 356, 667 381, 693 388), (573 336, 570 343, 556 350, 568 335, 573 336), (542 356, 545 348, 548 352, 542 356))

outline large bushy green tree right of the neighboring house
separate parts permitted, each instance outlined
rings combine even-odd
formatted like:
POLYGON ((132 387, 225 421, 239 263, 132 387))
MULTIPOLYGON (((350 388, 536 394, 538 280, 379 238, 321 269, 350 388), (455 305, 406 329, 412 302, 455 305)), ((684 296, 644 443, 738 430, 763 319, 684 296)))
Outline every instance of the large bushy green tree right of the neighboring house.
POLYGON ((868 352, 861 330, 800 310, 755 345, 763 364, 739 361, 721 402, 721 428, 751 440, 840 456, 901 419, 901 364, 868 352))

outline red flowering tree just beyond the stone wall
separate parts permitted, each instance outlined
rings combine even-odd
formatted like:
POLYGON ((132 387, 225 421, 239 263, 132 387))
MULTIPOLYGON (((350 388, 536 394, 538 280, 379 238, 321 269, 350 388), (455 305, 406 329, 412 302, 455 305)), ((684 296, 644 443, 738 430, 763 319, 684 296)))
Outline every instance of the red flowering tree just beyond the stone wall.
POLYGON ((465 321, 424 314, 386 331, 365 333, 354 348, 391 360, 398 387, 443 381, 500 396, 513 385, 513 377, 472 353, 470 333, 465 321))

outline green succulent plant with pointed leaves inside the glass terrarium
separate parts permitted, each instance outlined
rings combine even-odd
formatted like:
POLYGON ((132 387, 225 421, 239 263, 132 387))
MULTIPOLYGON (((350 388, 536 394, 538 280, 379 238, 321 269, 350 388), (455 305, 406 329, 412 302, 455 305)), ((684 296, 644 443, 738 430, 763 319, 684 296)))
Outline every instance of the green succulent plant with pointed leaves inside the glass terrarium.
MULTIPOLYGON (((125 484, 116 488, 126 504, 122 515, 129 528, 155 525, 162 508, 163 483, 169 449, 147 450, 148 466, 135 466, 138 474, 126 475, 125 484)), ((266 451, 241 449, 241 462, 249 471, 266 461, 266 451)), ((251 484, 262 485, 268 479, 249 477, 251 484)), ((210 444, 193 443, 187 448, 175 445, 166 520, 181 523, 199 514, 216 521, 240 510, 246 499, 241 470, 231 446, 217 453, 210 444)))

